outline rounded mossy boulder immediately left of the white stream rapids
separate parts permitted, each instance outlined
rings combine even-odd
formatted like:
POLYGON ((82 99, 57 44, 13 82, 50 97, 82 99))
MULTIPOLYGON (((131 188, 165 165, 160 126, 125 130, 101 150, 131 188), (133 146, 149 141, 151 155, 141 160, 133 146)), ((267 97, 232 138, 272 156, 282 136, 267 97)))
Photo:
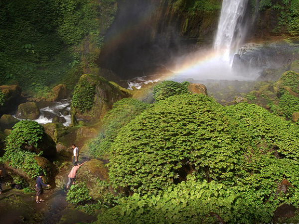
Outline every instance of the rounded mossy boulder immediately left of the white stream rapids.
POLYGON ((16 116, 21 119, 35 120, 39 117, 39 109, 34 102, 26 102, 18 106, 16 116))

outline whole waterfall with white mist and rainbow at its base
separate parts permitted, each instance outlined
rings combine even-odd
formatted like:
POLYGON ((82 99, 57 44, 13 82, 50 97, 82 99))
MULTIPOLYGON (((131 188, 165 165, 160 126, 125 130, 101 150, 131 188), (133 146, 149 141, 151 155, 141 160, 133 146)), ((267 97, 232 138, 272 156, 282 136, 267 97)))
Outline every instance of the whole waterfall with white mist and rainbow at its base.
MULTIPOLYGON (((217 35, 212 49, 185 55, 173 69, 174 80, 251 80, 249 74, 234 73, 233 56, 244 43, 248 21, 249 0, 223 0, 217 35)), ((173 71, 172 70, 172 71, 173 71)))

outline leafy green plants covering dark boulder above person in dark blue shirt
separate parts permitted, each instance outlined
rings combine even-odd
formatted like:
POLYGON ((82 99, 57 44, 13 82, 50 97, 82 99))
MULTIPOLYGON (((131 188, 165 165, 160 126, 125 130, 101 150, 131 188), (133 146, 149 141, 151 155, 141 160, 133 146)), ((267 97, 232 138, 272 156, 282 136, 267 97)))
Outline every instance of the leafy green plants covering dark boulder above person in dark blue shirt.
POLYGON ((37 177, 38 172, 42 171, 34 160, 37 154, 27 151, 26 148, 36 148, 43 136, 44 129, 36 121, 17 122, 6 138, 5 154, 1 161, 9 162, 10 166, 24 170, 31 178, 37 177))

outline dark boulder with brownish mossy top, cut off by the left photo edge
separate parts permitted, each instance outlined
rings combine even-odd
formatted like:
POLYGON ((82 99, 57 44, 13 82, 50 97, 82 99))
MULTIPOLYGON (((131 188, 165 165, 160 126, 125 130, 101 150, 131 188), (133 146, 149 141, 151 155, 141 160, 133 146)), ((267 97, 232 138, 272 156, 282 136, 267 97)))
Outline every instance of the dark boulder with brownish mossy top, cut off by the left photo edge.
POLYGON ((19 86, 0 86, 0 114, 16 109, 21 98, 22 89, 19 86))

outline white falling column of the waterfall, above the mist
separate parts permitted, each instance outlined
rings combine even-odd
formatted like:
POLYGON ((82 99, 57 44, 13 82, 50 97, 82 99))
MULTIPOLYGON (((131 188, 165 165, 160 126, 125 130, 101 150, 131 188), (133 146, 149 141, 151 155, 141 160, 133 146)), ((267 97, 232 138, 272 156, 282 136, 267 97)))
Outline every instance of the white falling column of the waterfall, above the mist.
POLYGON ((248 0, 223 0, 214 49, 223 52, 223 59, 231 61, 244 42, 247 31, 248 0))

